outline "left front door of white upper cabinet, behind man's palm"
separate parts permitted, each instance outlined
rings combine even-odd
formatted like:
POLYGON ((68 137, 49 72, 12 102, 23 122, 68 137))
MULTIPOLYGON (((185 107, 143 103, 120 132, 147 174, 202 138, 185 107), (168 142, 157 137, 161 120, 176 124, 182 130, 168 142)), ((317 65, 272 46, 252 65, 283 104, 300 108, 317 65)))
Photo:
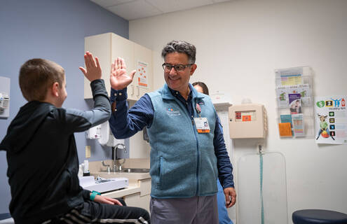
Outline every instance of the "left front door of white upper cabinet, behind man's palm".
MULTIPOLYGON (((117 57, 125 60, 128 74, 135 70, 134 64, 134 43, 116 34, 112 34, 111 62, 117 57)), ((134 81, 128 86, 128 99, 137 100, 134 81)))

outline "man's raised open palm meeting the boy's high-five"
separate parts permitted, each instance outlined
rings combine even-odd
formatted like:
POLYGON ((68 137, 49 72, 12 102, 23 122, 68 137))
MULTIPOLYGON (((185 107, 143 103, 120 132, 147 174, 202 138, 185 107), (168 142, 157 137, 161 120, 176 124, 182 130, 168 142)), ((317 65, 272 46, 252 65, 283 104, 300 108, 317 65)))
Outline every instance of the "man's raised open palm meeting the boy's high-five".
POLYGON ((109 82, 114 90, 123 90, 132 82, 134 75, 135 70, 127 75, 124 59, 117 57, 111 65, 111 76, 109 77, 109 82))

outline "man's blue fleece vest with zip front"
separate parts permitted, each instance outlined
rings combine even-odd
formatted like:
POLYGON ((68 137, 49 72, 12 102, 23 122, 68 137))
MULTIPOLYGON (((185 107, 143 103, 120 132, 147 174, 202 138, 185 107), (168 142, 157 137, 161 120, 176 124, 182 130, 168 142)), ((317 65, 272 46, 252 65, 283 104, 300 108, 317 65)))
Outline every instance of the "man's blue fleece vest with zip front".
POLYGON ((210 97, 192 88, 194 117, 207 118, 210 133, 198 134, 186 107, 168 85, 149 97, 154 120, 148 129, 151 144, 151 196, 158 198, 215 195, 217 158, 213 146, 216 112, 210 97))

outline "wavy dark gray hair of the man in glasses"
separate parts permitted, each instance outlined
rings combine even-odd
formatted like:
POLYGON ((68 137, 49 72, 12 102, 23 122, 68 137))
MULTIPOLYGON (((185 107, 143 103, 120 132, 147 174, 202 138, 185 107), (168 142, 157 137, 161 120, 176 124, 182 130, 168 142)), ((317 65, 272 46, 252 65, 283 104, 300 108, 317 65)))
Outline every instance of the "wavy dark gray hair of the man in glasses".
POLYGON ((173 52, 184 53, 188 56, 190 64, 195 63, 196 48, 193 44, 187 43, 186 41, 170 41, 164 46, 161 56, 165 59, 168 53, 173 52))

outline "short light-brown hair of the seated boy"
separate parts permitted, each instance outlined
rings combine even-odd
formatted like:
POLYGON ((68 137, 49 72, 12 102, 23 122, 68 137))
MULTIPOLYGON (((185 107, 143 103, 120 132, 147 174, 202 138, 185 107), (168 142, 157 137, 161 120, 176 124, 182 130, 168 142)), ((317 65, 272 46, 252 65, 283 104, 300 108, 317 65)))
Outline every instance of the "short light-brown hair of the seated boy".
POLYGON ((23 97, 28 102, 43 101, 53 83, 57 82, 62 87, 64 73, 62 66, 55 62, 41 58, 29 59, 20 67, 19 84, 23 97))

